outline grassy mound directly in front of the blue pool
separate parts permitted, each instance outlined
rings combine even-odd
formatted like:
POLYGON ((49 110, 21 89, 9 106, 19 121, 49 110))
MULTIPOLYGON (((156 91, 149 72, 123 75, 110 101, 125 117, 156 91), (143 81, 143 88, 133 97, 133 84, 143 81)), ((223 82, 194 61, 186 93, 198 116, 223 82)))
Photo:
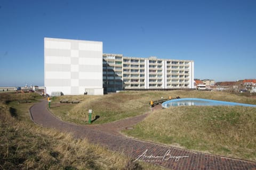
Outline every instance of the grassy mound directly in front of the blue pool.
POLYGON ((134 129, 139 139, 181 148, 256 160, 253 107, 191 106, 157 110, 134 129))

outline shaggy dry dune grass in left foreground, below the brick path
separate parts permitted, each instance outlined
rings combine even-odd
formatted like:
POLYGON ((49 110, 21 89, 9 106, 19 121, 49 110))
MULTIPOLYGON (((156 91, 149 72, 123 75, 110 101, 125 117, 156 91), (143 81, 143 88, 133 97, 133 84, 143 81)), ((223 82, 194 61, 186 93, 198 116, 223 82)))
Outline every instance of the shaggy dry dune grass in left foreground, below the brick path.
POLYGON ((0 169, 159 169, 31 122, 36 94, 0 94, 0 169), (25 100, 31 103, 20 103, 25 100))

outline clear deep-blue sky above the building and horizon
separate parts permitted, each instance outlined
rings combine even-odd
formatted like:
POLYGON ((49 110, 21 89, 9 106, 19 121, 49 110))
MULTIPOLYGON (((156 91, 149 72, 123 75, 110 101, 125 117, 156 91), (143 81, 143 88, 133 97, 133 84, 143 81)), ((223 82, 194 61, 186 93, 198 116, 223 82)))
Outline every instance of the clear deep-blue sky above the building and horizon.
POLYGON ((0 86, 44 85, 44 37, 194 60, 195 78, 256 78, 256 1, 0 0, 0 86))

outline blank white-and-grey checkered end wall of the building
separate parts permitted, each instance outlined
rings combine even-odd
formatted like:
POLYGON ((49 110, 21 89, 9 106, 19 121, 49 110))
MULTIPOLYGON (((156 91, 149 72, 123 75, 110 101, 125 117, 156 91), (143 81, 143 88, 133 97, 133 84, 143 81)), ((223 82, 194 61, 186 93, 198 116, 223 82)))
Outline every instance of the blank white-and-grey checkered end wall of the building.
POLYGON ((103 95, 102 42, 44 38, 46 93, 103 95))

